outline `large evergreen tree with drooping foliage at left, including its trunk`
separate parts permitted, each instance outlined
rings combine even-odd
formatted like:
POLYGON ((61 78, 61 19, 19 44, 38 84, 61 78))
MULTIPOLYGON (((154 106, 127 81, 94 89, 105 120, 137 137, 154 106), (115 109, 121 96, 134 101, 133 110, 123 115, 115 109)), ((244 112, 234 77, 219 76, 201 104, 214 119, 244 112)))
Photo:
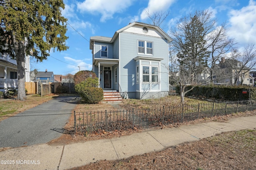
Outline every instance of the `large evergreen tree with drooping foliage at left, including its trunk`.
POLYGON ((15 57, 17 100, 26 100, 25 56, 42 62, 50 49, 66 50, 66 21, 62 0, 0 0, 0 52, 15 57))

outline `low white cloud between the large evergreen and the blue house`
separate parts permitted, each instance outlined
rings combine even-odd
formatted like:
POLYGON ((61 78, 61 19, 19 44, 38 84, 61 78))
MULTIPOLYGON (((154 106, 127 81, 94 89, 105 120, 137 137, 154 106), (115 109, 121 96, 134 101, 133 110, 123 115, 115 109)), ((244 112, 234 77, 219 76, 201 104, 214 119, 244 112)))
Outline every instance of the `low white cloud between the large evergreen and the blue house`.
POLYGON ((79 66, 80 66, 80 70, 92 70, 92 64, 87 64, 82 60, 76 60, 71 57, 64 57, 64 59, 65 59, 65 61, 70 63, 70 64, 68 64, 67 67, 74 70, 74 71, 72 71, 71 74, 75 74, 76 72, 78 72, 79 66))

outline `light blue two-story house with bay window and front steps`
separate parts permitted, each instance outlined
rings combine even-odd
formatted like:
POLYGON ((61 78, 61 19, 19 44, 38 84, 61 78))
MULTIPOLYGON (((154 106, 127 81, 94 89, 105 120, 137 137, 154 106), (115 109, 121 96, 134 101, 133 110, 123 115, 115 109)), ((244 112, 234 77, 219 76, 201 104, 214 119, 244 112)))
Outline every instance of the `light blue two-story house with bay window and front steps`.
POLYGON ((90 37, 92 71, 104 90, 127 92, 129 98, 168 95, 168 43, 160 27, 133 22, 113 37, 90 37))

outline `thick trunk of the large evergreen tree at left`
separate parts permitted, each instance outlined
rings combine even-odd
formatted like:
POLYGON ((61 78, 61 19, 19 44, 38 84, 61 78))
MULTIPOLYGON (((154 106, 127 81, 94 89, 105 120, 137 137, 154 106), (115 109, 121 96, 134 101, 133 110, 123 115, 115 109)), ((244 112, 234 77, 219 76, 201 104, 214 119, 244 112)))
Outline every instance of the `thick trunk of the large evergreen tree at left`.
POLYGON ((25 91, 25 43, 24 41, 19 41, 16 43, 18 49, 15 49, 15 56, 18 67, 18 96, 16 100, 26 100, 26 91, 25 91))

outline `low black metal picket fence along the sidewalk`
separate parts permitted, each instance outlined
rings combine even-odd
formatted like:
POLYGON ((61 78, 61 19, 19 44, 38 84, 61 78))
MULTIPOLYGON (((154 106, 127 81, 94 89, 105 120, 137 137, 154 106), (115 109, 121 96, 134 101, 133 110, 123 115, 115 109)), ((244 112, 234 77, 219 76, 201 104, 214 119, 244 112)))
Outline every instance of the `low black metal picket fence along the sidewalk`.
POLYGON ((105 110, 90 113, 74 111, 74 131, 75 133, 87 135, 99 133, 100 131, 149 128, 254 109, 256 109, 256 101, 244 100, 162 107, 158 110, 105 110))

